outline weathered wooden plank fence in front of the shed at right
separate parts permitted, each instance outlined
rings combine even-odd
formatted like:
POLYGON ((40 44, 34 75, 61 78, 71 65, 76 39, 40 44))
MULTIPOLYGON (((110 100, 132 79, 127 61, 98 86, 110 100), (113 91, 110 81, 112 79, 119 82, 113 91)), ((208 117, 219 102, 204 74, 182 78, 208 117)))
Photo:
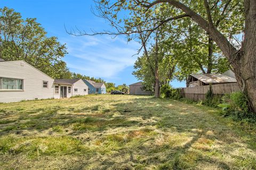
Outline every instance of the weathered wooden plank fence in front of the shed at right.
MULTIPOLYGON (((182 97, 192 100, 204 100, 205 94, 209 90, 209 86, 187 87, 181 89, 182 97)), ((215 96, 222 96, 224 94, 231 94, 232 92, 239 91, 237 83, 214 84, 212 91, 215 96)))

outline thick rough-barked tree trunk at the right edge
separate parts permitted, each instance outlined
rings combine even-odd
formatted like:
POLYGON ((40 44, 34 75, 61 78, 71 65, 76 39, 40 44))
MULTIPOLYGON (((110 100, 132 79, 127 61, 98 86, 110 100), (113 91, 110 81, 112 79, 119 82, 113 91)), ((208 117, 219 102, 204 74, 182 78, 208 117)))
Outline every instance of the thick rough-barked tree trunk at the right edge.
POLYGON ((232 66, 239 84, 249 98, 251 110, 256 113, 256 1, 245 0, 244 5, 244 42, 242 52, 233 56, 236 60, 232 66))

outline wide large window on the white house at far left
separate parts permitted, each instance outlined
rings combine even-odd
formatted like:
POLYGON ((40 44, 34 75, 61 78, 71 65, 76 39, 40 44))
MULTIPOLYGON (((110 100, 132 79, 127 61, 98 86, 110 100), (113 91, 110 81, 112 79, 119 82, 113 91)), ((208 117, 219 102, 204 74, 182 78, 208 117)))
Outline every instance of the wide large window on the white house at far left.
POLYGON ((23 80, 11 79, 11 78, 0 78, 0 89, 2 90, 22 90, 23 80))

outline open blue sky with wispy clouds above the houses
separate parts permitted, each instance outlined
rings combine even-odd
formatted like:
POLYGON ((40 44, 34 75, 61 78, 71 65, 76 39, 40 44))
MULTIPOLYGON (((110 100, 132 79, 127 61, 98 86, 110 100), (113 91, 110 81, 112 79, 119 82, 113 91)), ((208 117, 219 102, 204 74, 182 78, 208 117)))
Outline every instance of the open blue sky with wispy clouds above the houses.
MULTIPOLYGON (((108 23, 91 12, 92 0, 0 0, 0 7, 7 6, 20 12, 22 17, 36 18, 49 36, 66 44, 68 53, 63 60, 70 71, 107 82, 131 84, 138 80, 132 75, 133 64, 140 47, 135 41, 127 43, 125 37, 68 35, 65 30, 79 28, 90 32, 111 29, 108 23)), ((185 87, 184 82, 174 81, 174 87, 185 87)))

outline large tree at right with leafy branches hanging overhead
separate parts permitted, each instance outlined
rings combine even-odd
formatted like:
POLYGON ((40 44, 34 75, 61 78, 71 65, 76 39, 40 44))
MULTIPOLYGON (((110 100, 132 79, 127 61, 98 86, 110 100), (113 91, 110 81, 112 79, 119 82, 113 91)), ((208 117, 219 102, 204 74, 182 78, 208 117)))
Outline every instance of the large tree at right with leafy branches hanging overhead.
MULTIPOLYGON (((219 51, 220 55, 226 57, 227 66, 235 72, 241 90, 249 98, 251 110, 256 112, 256 1, 99 0, 95 1, 95 6, 97 13, 94 14, 108 21, 114 31, 78 31, 78 35, 126 35, 128 40, 137 40, 140 32, 147 32, 144 43, 141 41, 142 47, 139 52, 145 46, 143 44, 152 42, 150 36, 155 37, 154 32, 157 32, 159 27, 169 24, 172 29, 188 28, 188 25, 181 25, 180 21, 190 18, 190 28, 197 25, 208 37, 206 72, 214 69, 214 50, 219 51), (216 43, 215 49, 213 41, 216 43)), ((76 35, 76 32, 69 33, 76 35)), ((193 48, 189 52, 193 51, 193 48)), ((205 72, 201 60, 203 57, 198 58, 193 53, 191 58, 200 70, 205 72)))

